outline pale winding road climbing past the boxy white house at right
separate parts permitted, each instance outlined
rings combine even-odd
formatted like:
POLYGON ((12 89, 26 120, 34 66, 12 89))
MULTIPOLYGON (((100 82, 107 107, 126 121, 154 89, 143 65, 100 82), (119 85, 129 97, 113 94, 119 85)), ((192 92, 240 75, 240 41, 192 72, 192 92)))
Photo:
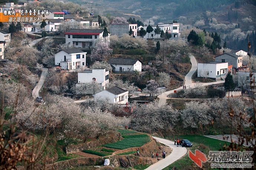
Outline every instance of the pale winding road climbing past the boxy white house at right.
MULTIPOLYGON (((188 72, 188 74, 185 76, 185 85, 186 85, 187 88, 193 87, 195 85, 195 83, 192 82, 192 75, 197 70, 196 58, 191 54, 189 54, 189 57, 190 57, 192 67, 191 67, 190 71, 188 72)), ((217 81, 217 82, 211 82, 211 83, 202 83, 202 84, 203 84, 203 86, 207 86, 207 85, 220 84, 220 83, 224 83, 224 81, 217 81)), ((159 98, 159 105, 165 104, 167 99, 171 99, 171 98, 168 98, 167 96, 170 95, 171 93, 174 93, 174 91, 177 91, 177 90, 180 90, 180 89, 183 89, 183 87, 179 87, 177 89, 167 91, 167 92, 164 92, 164 93, 161 93, 160 95, 158 95, 157 97, 159 98)))

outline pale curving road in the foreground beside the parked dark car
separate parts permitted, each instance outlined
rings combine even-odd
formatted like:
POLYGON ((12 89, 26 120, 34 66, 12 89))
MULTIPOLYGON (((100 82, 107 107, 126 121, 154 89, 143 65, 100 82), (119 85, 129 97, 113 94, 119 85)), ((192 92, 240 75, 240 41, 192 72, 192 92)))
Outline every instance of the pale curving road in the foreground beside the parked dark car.
MULTIPOLYGON (((154 136, 153 136, 154 137, 154 136)), ((162 159, 158 161, 155 164, 152 164, 145 170, 161 170, 167 167, 168 165, 174 163, 176 160, 180 159, 184 154, 187 153, 186 147, 177 147, 177 145, 174 145, 174 142, 162 139, 159 137, 154 137, 158 142, 163 143, 164 145, 167 145, 173 149, 173 152, 165 157, 165 159, 162 159)))

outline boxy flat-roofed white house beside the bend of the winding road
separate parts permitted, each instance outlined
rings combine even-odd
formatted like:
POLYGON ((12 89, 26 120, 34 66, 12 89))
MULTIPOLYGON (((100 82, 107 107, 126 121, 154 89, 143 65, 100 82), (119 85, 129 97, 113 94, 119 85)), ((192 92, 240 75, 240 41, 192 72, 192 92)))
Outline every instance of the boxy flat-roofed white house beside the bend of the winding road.
POLYGON ((197 77, 220 78, 228 72, 228 62, 210 62, 197 64, 197 77))

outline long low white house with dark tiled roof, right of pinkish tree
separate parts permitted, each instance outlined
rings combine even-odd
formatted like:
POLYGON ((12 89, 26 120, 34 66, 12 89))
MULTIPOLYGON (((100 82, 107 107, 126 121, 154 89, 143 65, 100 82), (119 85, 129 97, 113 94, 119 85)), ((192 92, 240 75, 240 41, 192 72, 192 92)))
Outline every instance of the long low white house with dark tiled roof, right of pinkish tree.
POLYGON ((107 61, 111 65, 113 72, 141 72, 142 62, 140 59, 132 58, 109 58, 107 61))

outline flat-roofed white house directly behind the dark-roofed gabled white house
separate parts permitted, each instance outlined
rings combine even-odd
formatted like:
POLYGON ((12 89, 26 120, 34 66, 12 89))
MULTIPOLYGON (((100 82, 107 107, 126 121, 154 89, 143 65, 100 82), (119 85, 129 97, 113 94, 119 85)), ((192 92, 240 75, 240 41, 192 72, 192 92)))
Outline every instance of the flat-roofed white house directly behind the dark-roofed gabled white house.
POLYGON ((109 82, 109 71, 106 69, 96 68, 92 70, 84 70, 78 72, 78 83, 88 83, 91 81, 97 81, 101 84, 101 89, 106 89, 106 84, 109 82))

